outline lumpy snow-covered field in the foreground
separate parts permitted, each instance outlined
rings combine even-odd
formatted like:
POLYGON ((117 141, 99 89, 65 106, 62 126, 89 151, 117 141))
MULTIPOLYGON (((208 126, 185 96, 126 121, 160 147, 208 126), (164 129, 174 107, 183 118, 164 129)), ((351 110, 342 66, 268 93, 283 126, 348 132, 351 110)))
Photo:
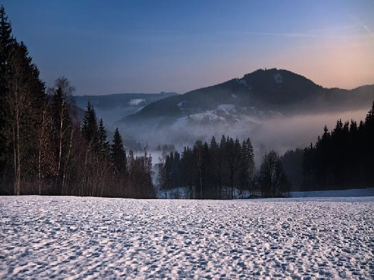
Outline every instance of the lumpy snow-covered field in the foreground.
POLYGON ((0 196, 0 278, 373 279, 374 197, 0 196))

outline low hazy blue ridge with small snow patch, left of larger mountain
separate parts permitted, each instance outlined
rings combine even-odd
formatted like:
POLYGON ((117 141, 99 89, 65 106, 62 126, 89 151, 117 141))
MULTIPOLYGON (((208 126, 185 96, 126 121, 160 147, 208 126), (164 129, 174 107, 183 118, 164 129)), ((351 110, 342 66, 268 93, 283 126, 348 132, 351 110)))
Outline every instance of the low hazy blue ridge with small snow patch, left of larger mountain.
POLYGON ((104 123, 111 125, 115 121, 130 114, 135 114, 143 107, 152 102, 159 101, 166 97, 176 95, 175 92, 161 93, 120 93, 108 95, 83 95, 74 97, 75 103, 83 110, 90 101, 97 116, 104 119, 104 123))

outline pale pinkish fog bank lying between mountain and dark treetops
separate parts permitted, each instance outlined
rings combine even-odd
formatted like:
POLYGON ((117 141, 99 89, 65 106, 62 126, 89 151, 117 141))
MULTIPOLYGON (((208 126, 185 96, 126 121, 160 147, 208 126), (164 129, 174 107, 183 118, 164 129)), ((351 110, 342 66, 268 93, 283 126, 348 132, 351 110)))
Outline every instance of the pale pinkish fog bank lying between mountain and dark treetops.
MULTIPOLYGON (((148 147, 153 163, 159 162, 162 151, 156 149, 159 144, 174 144, 178 151, 186 145, 192 146, 196 140, 210 141, 215 136, 219 142, 222 135, 232 138, 250 138, 255 150, 255 161, 261 162, 261 157, 271 149, 283 155, 288 149, 305 148, 311 142, 315 143, 318 135, 323 133, 327 125, 329 130, 334 129, 336 120, 363 120, 368 110, 354 110, 346 112, 333 112, 325 114, 297 114, 294 116, 275 116, 272 118, 242 117, 237 123, 227 125, 222 123, 191 124, 177 121, 172 125, 163 127, 120 127, 125 134, 131 135, 138 142, 148 147)), ((125 140, 126 142, 126 140, 125 140)), ((141 155, 143 151, 135 151, 141 155)))

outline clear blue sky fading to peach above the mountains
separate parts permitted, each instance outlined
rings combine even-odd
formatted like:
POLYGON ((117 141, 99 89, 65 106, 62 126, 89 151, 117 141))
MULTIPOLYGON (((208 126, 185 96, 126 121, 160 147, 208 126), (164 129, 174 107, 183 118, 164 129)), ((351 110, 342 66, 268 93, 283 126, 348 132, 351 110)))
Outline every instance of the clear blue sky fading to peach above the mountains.
POLYGON ((258 68, 374 84, 374 0, 0 0, 47 86, 184 93, 258 68))

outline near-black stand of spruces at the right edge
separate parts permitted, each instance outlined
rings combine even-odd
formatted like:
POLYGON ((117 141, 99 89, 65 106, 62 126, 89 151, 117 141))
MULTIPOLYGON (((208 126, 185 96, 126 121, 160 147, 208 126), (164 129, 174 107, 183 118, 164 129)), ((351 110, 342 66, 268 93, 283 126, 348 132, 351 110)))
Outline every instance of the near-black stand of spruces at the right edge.
POLYGON ((325 126, 303 151, 303 189, 368 188, 374 184, 374 102, 364 120, 325 126))

